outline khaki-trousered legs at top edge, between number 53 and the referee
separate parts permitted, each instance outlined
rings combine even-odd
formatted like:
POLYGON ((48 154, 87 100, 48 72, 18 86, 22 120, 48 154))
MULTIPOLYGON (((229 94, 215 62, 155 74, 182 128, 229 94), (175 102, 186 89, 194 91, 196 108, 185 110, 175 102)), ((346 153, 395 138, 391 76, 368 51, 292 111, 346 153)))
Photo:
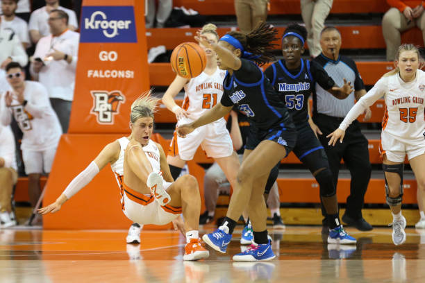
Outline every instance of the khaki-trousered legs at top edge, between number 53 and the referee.
POLYGON ((301 0, 301 17, 306 24, 308 49, 313 58, 322 52, 320 33, 324 28, 324 21, 331 11, 332 4, 333 0, 301 0))

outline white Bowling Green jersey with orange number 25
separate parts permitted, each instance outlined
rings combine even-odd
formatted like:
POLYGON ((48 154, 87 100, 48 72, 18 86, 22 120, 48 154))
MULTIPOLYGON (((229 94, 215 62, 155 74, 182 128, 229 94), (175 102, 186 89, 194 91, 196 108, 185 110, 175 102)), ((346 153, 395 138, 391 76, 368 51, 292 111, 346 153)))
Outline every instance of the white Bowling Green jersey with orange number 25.
POLYGON ((425 139, 425 73, 417 70, 410 83, 401 80, 399 74, 383 77, 364 96, 366 105, 372 105, 384 96, 385 114, 383 132, 405 143, 422 142, 425 139))

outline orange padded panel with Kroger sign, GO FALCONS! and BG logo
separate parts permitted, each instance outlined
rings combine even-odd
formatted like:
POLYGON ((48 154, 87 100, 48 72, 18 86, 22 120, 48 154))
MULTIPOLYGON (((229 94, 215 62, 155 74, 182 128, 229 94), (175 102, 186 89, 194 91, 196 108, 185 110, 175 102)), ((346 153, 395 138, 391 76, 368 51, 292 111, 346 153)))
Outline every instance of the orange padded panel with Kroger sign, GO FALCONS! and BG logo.
POLYGON ((70 133, 128 132, 149 89, 144 1, 85 0, 70 133))

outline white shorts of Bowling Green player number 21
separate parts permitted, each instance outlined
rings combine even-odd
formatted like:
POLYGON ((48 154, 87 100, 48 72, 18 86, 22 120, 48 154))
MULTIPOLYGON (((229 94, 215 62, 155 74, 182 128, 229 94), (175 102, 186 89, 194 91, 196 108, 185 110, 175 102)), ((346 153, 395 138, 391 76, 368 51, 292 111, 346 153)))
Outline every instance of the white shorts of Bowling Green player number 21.
MULTIPOLYGON (((191 123, 192 121, 179 121, 179 123, 191 123)), ((219 119, 213 123, 201 126, 187 135, 185 138, 177 137, 174 131, 168 154, 179 155, 182 160, 192 160, 199 146, 202 147, 208 157, 228 157, 233 153, 232 139, 226 129, 226 120, 219 119)))

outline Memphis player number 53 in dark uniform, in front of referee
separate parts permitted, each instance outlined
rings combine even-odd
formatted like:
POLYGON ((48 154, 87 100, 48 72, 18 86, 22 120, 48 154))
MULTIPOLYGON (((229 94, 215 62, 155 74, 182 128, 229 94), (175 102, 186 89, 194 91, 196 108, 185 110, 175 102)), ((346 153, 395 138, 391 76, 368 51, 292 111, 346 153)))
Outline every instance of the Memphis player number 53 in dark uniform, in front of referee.
POLYGON ((316 62, 302 59, 306 28, 292 24, 282 37, 283 60, 278 60, 265 70, 276 92, 285 101, 292 114, 298 137, 293 151, 303 165, 313 174, 320 187, 320 197, 326 209, 326 220, 330 229, 328 243, 356 243, 356 239, 344 232, 338 216, 338 200, 333 183, 328 157, 308 123, 308 98, 318 83, 336 98, 346 98, 352 91, 351 83, 344 79, 338 87, 326 71, 316 62))

